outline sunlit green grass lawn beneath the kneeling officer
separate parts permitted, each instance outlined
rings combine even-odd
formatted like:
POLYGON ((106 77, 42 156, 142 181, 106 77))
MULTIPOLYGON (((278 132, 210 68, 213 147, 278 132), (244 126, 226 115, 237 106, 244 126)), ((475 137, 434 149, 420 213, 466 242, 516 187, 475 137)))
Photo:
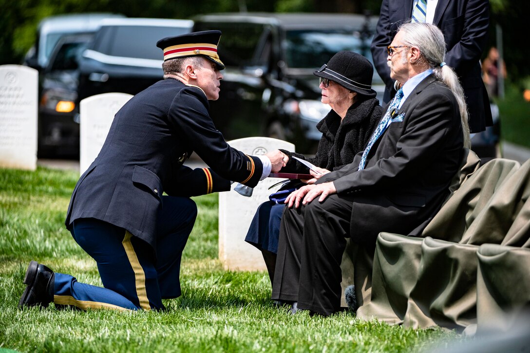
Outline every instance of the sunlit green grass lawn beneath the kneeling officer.
POLYGON ((0 352, 408 352, 464 339, 361 321, 349 312, 324 318, 273 307, 266 272, 224 271, 218 261, 217 195, 195 199, 199 216, 183 254, 183 293, 164 301, 166 312, 19 310, 30 260, 101 285, 95 262, 64 227, 77 177, 0 169, 0 352))

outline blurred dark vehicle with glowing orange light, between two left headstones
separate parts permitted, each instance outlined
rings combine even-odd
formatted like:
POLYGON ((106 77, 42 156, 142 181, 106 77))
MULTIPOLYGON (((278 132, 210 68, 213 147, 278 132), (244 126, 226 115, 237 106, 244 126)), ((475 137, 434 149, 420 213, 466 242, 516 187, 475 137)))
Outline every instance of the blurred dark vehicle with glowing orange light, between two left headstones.
POLYGON ((39 75, 39 157, 79 156, 79 59, 92 38, 63 36, 39 75))

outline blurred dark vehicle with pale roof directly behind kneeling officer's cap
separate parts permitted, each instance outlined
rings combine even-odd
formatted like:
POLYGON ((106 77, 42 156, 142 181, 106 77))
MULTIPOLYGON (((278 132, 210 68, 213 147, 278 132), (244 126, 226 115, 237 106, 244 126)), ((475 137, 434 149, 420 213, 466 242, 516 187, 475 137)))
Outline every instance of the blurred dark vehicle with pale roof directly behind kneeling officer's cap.
POLYGON ((80 60, 78 101, 101 93, 136 94, 162 80, 156 42, 191 31, 190 20, 108 19, 80 60))

